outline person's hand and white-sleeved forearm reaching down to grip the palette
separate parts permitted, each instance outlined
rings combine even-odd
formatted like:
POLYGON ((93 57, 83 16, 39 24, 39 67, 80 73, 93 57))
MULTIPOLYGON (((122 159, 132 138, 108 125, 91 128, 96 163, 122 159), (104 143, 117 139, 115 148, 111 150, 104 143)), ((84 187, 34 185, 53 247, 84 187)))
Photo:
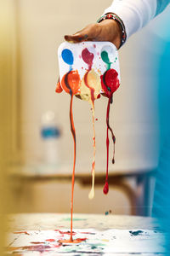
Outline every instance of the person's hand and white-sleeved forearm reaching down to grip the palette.
MULTIPOLYGON (((115 0, 106 13, 118 15, 126 28, 127 38, 145 26, 167 7, 170 0, 115 0)), ((86 26, 74 35, 66 35, 65 40, 78 43, 87 40, 110 41, 119 49, 122 31, 116 20, 103 20, 86 26)))

